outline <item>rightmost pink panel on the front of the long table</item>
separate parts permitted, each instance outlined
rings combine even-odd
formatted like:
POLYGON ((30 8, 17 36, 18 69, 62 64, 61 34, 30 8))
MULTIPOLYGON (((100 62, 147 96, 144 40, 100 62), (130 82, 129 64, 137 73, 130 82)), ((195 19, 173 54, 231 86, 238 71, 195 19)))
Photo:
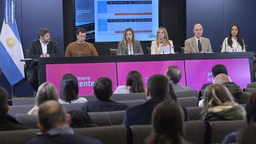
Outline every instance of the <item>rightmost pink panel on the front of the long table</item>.
POLYGON ((231 81, 240 88, 251 83, 248 59, 185 60, 187 86, 199 91, 204 84, 212 83, 212 67, 217 64, 227 68, 231 81))

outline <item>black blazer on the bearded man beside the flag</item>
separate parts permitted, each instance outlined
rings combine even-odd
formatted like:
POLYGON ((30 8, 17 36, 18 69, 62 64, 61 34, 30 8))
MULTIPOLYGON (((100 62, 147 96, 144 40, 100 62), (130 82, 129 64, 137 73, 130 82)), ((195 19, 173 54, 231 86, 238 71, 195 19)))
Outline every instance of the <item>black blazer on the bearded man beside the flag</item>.
MULTIPOLYGON (((54 56, 62 57, 62 53, 58 47, 58 44, 56 44, 56 45, 55 44, 56 44, 55 41, 50 41, 47 44, 47 54, 49 54, 49 56, 52 57, 53 56, 53 48, 54 48, 54 56)), ((31 44, 28 48, 27 58, 28 59, 37 59, 37 58, 40 58, 42 53, 43 53, 43 51, 42 51, 42 46, 41 46, 40 40, 39 39, 32 40, 31 44)), ((36 69, 37 69, 37 62, 28 62, 28 64, 27 64, 28 75, 36 69)))

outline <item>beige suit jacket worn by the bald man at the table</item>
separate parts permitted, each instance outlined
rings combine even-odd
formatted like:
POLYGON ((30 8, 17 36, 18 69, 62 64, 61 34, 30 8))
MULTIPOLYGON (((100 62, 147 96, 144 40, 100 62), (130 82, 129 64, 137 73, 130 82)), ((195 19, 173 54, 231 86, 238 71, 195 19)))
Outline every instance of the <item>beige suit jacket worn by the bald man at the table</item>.
MULTIPOLYGON (((202 49, 206 48, 206 52, 212 52, 212 46, 208 38, 201 37, 202 49)), ((198 50, 198 45, 196 44, 195 36, 187 39, 185 41, 184 53, 200 53, 198 50)))

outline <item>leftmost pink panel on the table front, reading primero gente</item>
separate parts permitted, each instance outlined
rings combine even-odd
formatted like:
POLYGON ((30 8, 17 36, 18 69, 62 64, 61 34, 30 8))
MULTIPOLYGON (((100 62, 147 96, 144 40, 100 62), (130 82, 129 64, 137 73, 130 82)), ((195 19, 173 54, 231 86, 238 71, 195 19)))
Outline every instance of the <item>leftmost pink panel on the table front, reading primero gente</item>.
POLYGON ((93 85, 100 77, 109 77, 113 89, 117 87, 116 63, 47 64, 46 81, 54 84, 60 92, 60 79, 71 73, 78 80, 78 95, 92 95, 93 85))

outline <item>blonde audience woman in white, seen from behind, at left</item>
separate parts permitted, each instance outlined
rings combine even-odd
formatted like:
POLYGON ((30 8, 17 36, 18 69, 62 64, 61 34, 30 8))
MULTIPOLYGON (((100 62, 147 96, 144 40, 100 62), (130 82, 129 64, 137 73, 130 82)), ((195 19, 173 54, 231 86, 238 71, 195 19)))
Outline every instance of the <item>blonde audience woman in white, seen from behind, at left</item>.
POLYGON ((47 100, 58 101, 58 92, 52 83, 44 82, 39 86, 38 91, 36 92, 35 107, 32 108, 28 114, 37 115, 40 105, 47 100))

